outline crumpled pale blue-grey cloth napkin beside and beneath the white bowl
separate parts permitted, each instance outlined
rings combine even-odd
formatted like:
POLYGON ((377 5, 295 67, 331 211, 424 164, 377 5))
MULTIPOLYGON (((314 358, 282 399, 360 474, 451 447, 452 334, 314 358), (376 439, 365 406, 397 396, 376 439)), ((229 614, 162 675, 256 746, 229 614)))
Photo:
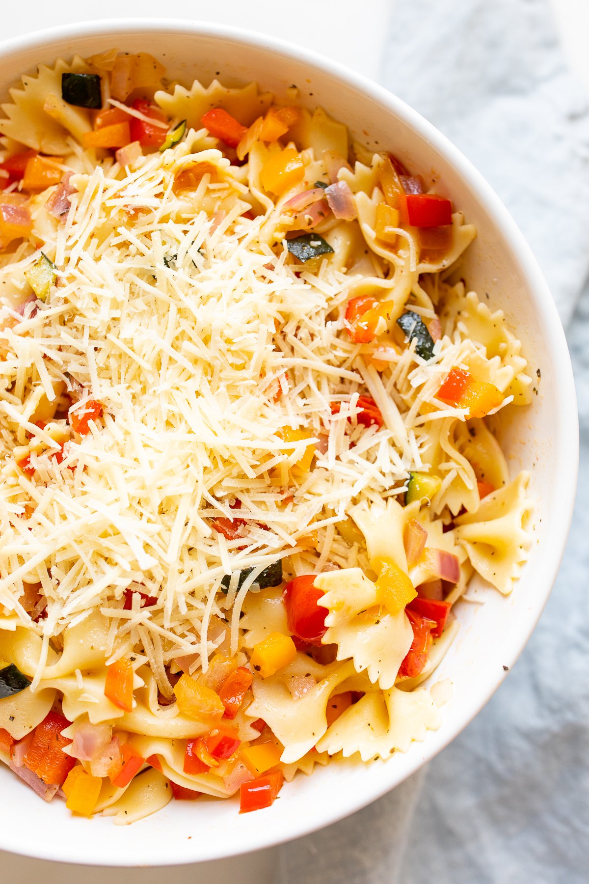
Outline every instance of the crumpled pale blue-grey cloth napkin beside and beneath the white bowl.
POLYGON ((280 880, 580 884, 589 868, 587 100, 547 0, 398 0, 381 82, 495 187, 570 324, 583 443, 578 508, 555 590, 502 689, 389 795, 285 845, 280 880))

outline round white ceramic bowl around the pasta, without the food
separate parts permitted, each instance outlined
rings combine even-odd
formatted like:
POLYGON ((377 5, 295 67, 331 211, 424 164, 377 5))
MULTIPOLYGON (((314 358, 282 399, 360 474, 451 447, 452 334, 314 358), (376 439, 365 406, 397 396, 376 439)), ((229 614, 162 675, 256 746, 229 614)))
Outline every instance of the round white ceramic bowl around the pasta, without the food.
POLYGON ((286 43, 230 27, 165 20, 101 21, 61 27, 3 44, 0 87, 57 57, 117 46, 160 58, 189 84, 218 74, 223 83, 258 80, 283 94, 296 83, 302 102, 321 104, 359 141, 389 149, 412 170, 434 170, 438 191, 474 222, 464 278, 501 307, 523 341, 536 382, 532 406, 513 409, 502 429, 510 469, 529 469, 534 503, 530 559, 512 594, 480 589, 484 605, 458 608, 461 630, 434 681, 450 677, 442 727, 406 754, 362 765, 335 762, 298 775, 264 812, 238 815, 235 801, 170 803, 130 827, 72 817, 62 802, 44 804, 6 768, 0 848, 27 856, 95 865, 168 865, 228 857, 306 834, 359 810, 414 773, 460 733, 512 667, 540 617, 563 554, 578 469, 578 421, 570 358, 555 304, 522 234, 493 190, 462 154, 414 110, 354 72, 286 43))

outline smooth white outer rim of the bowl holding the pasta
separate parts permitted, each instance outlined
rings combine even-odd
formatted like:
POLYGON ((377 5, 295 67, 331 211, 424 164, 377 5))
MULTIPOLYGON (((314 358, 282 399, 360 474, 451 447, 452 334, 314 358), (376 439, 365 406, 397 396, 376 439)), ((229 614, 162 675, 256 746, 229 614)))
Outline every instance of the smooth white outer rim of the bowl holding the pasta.
MULTIPOLYGON (((422 117, 418 111, 413 110, 409 104, 389 92, 387 88, 370 80, 364 74, 355 72, 351 68, 324 57, 313 50, 307 50, 295 43, 284 41, 269 34, 262 34, 241 27, 212 24, 198 19, 131 19, 128 17, 121 19, 92 19, 90 21, 74 22, 63 26, 46 28, 3 41, 0 45, 0 57, 15 57, 26 51, 42 50, 43 47, 58 41, 72 40, 72 42, 77 42, 80 39, 89 37, 109 39, 113 34, 117 36, 131 36, 141 33, 193 34, 205 38, 237 42, 253 49, 271 50, 277 55, 298 63, 302 62, 310 68, 341 80, 347 86, 368 95, 374 102, 381 104, 381 106, 384 106, 396 117, 401 118, 414 132, 430 142, 432 149, 437 150, 460 173, 468 187, 471 188, 472 193, 475 194, 477 201, 485 206, 493 224, 510 240, 510 248, 520 265, 522 276, 527 279, 530 286, 533 303, 538 310, 540 326, 545 330, 549 330, 547 350, 554 361, 560 382, 560 398, 557 400, 556 413, 554 415, 555 437, 558 439, 558 444, 555 448, 560 452, 560 457, 555 462, 555 477, 557 480, 555 484, 560 488, 560 493, 555 495, 553 508, 555 530, 551 535, 551 543, 544 552, 543 573, 546 579, 543 582, 542 592, 537 596, 533 609, 529 613, 525 631, 519 634, 510 654, 504 655, 506 665, 511 670, 540 619, 563 559, 575 502, 579 449, 577 397, 563 325, 547 282, 523 233, 519 230, 517 224, 510 216, 510 212, 505 208, 498 195, 495 194, 494 189, 487 183, 487 180, 480 171, 445 135, 426 118, 422 117)), ((72 45, 72 52, 75 53, 75 44, 72 45)), ((505 667, 503 668, 505 669, 505 667)), ((291 841, 335 823, 340 819, 344 819, 344 817, 359 811, 362 807, 371 804, 377 798, 386 794, 390 789, 393 789, 400 782, 415 773, 419 767, 423 766, 431 758, 434 758, 439 751, 442 751, 464 730, 482 707, 487 704, 506 674, 507 671, 504 671, 492 687, 488 687, 482 695, 477 695, 477 697, 472 699, 472 703, 468 705, 468 708, 461 715, 457 716, 452 727, 449 728, 449 733, 440 743, 422 754, 415 753, 412 764, 407 766, 401 779, 395 775, 390 777, 387 777, 386 774, 383 775, 377 788, 366 789, 365 792, 360 794, 356 792, 353 796, 350 796, 347 802, 340 803, 336 808, 332 808, 331 812, 325 813, 320 821, 315 819, 312 821, 307 819, 291 819, 291 827, 288 832, 281 831, 279 833, 274 832, 273 834, 268 834, 264 827, 260 827, 260 838, 250 848, 244 849, 242 846, 231 848, 228 846, 227 850, 222 852, 213 850, 207 854, 205 851, 204 855, 202 850, 200 850, 200 856, 193 856, 192 858, 187 853, 183 853, 180 857, 165 856, 165 851, 162 850, 159 854, 159 860, 155 859, 154 855, 154 858, 150 861, 151 857, 143 855, 140 858, 130 857, 129 862, 126 862, 125 865, 181 865, 186 862, 206 862, 212 859, 243 855, 291 841), (392 781, 393 779, 394 781, 392 781)), ((386 768, 383 770, 386 770, 386 768)), ((271 827, 268 827, 268 830, 271 830, 271 827)), ((0 830, 1 850, 17 852, 19 855, 26 857, 38 857, 57 862, 78 863, 81 865, 115 865, 109 861, 109 857, 104 856, 104 851, 98 845, 93 856, 88 856, 87 850, 82 854, 77 845, 72 843, 68 844, 66 850, 64 850, 63 843, 56 843, 53 850, 49 850, 49 848, 38 850, 35 849, 34 844, 31 842, 32 840, 28 838, 22 839, 22 842, 18 845, 15 845, 13 840, 10 843, 6 842, 3 831, 0 830)), ((202 845, 196 839, 194 848, 195 853, 199 852, 198 848, 202 848, 202 845)), ((123 865, 120 857, 117 858, 117 865, 123 865)))

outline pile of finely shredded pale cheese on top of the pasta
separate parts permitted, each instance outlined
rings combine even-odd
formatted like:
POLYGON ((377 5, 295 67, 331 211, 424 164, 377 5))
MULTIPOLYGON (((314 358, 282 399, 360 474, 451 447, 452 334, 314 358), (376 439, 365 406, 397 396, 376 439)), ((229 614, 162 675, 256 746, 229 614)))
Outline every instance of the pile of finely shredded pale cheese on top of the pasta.
MULTIPOLYGON (((241 604, 262 568, 356 563, 358 545, 337 523, 352 501, 398 493, 422 466, 431 415, 419 409, 475 347, 446 339, 427 366, 412 347, 391 349, 384 380, 344 333, 358 275, 328 261, 293 272, 286 244, 273 250, 261 237, 264 217, 243 217, 242 171, 215 149, 189 154, 197 136, 133 171, 105 163, 76 175, 65 225, 39 206, 58 285, 36 313, 6 311, 1 339, 0 603, 29 622, 19 598, 41 584, 47 616, 30 625, 54 643, 100 608, 109 653, 143 646, 168 695, 163 665, 178 654, 197 653, 206 668, 226 626, 237 650, 241 604), (210 172, 175 194, 187 157, 210 172), (350 429, 366 390, 381 430, 350 429), (104 415, 87 437, 64 419, 37 425, 43 407, 90 398, 104 415), (289 445, 284 428, 308 438, 289 445), (34 478, 16 466, 23 445, 34 478), (296 465, 307 446, 305 475, 296 465), (246 530, 228 540, 213 520, 235 516, 236 501, 246 530), (129 588, 156 604, 141 608, 135 595, 125 611, 129 588)), ((0 270, 20 298, 39 253, 23 255, 0 270)))

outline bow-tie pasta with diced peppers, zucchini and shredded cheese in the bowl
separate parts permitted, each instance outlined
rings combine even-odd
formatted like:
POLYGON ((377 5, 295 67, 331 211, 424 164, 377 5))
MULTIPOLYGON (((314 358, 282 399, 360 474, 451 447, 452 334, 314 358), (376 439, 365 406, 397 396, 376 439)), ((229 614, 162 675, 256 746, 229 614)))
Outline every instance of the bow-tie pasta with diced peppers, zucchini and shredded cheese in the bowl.
POLYGON ((525 561, 474 227, 299 97, 109 50, 2 106, 0 758, 73 813, 407 751, 525 561))

